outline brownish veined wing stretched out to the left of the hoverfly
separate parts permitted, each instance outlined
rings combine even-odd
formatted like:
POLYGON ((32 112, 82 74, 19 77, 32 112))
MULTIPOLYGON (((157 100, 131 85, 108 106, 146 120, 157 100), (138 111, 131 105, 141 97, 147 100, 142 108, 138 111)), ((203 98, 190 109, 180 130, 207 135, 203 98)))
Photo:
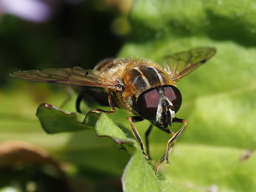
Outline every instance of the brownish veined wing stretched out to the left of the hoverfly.
POLYGON ((29 81, 60 83, 69 85, 83 85, 116 89, 116 82, 100 76, 98 71, 85 70, 81 67, 66 69, 45 69, 18 71, 10 76, 29 81))

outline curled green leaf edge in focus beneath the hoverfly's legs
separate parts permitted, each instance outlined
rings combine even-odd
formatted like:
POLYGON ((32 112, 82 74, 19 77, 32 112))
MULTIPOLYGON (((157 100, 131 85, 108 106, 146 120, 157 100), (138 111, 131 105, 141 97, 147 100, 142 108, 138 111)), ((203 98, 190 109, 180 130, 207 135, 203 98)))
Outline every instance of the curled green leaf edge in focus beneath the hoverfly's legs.
POLYGON ((47 133, 93 129, 99 137, 114 140, 130 155, 133 154, 122 177, 124 191, 161 191, 153 168, 145 161, 137 141, 126 138, 108 115, 89 112, 84 116, 43 103, 37 109, 37 117, 47 133), (137 181, 135 185, 134 180, 137 181))

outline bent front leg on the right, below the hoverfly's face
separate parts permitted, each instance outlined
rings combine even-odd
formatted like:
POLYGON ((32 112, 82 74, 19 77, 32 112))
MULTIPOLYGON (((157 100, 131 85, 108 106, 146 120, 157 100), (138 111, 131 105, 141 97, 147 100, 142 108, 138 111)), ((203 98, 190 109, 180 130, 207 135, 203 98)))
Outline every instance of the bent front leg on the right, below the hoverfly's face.
POLYGON ((169 165, 170 162, 169 162, 169 154, 170 154, 170 151, 175 143, 175 140, 178 139, 178 137, 180 136, 180 134, 184 131, 185 127, 187 126, 188 124, 188 121, 185 120, 185 119, 180 119, 180 118, 174 118, 173 119, 173 123, 183 123, 184 125, 181 127, 181 129, 177 132, 177 133, 173 133, 172 131, 167 131, 167 130, 163 130, 167 133, 170 133, 172 136, 172 138, 167 142, 167 149, 166 149, 166 153, 164 154, 164 156, 159 159, 159 161, 157 162, 156 164, 156 167, 155 167, 155 173, 157 173, 158 171, 158 167, 159 167, 159 164, 161 164, 164 159, 166 159, 166 162, 165 162, 165 165, 169 165))

